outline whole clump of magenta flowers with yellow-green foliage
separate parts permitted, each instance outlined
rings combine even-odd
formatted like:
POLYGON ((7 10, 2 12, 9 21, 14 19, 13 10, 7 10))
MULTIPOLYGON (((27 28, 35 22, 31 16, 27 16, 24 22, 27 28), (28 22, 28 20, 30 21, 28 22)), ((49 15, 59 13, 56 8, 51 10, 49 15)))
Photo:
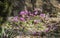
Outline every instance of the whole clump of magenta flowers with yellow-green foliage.
MULTIPOLYGON (((43 22, 41 22, 41 19, 44 20, 46 18, 46 14, 44 14, 44 13, 41 13, 39 15, 37 15, 37 14, 38 14, 37 9, 35 9, 34 12, 32 12, 32 13, 30 11, 23 10, 19 14, 21 16, 13 17, 13 21, 16 22, 18 26, 19 25, 22 26, 21 28, 24 27, 24 30, 26 30, 26 31, 31 31, 31 32, 36 31, 38 33, 49 32, 50 27, 46 27, 46 25, 43 22), (20 24, 18 23, 18 21, 20 24)), ((53 29, 55 29, 55 28, 53 28, 53 29)))

